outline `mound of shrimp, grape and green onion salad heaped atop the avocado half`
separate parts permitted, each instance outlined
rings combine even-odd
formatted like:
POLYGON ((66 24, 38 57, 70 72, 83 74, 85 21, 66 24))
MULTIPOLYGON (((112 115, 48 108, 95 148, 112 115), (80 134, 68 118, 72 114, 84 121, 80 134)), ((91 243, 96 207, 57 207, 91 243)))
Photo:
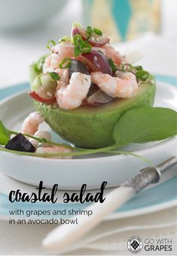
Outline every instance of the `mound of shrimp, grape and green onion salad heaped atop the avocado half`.
MULTIPOLYGON (((127 63, 101 30, 75 23, 72 36, 50 40, 50 53, 42 58, 41 70, 29 95, 47 105, 71 110, 82 105, 108 104, 114 98, 130 98, 148 80, 141 66, 127 63)), ((41 58, 40 58, 41 61, 41 58)))

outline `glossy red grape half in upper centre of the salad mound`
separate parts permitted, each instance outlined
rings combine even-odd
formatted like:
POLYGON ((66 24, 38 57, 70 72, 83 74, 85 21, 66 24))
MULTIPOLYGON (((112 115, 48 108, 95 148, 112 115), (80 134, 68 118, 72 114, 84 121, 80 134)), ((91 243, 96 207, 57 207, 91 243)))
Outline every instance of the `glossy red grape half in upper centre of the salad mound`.
POLYGON ((84 53, 80 56, 80 59, 90 67, 91 71, 112 74, 110 64, 101 52, 92 51, 90 53, 84 53))

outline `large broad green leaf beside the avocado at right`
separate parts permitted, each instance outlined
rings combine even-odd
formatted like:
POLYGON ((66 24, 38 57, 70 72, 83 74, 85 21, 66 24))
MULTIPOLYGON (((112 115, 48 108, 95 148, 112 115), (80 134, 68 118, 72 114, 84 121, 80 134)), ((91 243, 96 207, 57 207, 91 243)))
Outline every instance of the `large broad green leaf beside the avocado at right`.
POLYGON ((130 142, 154 142, 176 134, 177 112, 170 108, 138 108, 127 111, 113 130, 117 147, 130 142))

